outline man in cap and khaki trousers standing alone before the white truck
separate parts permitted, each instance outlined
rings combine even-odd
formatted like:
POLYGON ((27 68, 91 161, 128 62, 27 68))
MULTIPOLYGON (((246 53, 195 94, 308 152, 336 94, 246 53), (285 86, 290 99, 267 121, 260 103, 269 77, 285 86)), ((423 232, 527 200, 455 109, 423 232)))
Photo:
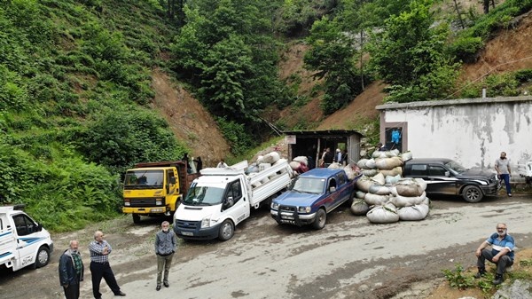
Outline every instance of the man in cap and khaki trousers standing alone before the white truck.
POLYGON ((168 273, 177 246, 176 233, 170 230, 168 221, 163 221, 160 228, 160 232, 155 234, 155 255, 157 255, 157 287, 155 289, 158 291, 160 290, 163 269, 164 279, 162 279, 162 283, 165 287, 170 287, 168 273))

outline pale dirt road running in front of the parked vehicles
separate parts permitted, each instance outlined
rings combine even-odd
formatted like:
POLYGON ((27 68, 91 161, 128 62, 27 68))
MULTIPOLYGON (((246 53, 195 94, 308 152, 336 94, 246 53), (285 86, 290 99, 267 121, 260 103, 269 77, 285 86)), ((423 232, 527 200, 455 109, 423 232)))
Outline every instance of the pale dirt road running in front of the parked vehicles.
MULTIPOLYGON (((170 287, 155 291, 153 234, 159 219, 140 225, 121 219, 55 235, 51 264, 36 271, 0 271, 2 298, 63 298, 59 255, 70 239, 87 244, 96 229, 113 246, 111 264, 127 298, 426 298, 442 269, 473 267, 473 250, 497 222, 506 222, 518 247, 532 248, 532 197, 489 198, 479 204, 433 201, 419 222, 370 224, 348 207, 332 212, 322 231, 278 226, 267 210, 255 211, 226 242, 183 242, 170 287), (419 286, 422 287, 419 287, 419 286), (411 286, 417 286, 411 288, 411 286)), ((92 298, 85 271, 82 298, 92 298)), ((102 282, 104 298, 113 294, 102 282)))

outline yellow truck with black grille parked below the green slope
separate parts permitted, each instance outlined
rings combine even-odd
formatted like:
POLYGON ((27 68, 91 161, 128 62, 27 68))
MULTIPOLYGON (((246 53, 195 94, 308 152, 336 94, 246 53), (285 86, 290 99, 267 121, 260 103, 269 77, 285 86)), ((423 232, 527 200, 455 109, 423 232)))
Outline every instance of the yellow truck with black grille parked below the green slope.
POLYGON ((122 212, 133 222, 140 216, 171 216, 199 173, 187 172, 187 161, 138 163, 124 177, 122 212))

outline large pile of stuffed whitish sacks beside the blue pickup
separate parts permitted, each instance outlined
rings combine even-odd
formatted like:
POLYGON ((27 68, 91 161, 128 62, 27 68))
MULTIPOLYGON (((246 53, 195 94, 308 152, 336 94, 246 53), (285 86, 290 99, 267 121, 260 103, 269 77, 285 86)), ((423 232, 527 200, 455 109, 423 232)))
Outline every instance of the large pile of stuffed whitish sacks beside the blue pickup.
POLYGON ((363 176, 356 181, 356 200, 351 212, 365 215, 377 224, 425 219, 429 212, 425 181, 401 177, 403 161, 411 157, 410 152, 376 151, 372 159, 358 161, 363 176))

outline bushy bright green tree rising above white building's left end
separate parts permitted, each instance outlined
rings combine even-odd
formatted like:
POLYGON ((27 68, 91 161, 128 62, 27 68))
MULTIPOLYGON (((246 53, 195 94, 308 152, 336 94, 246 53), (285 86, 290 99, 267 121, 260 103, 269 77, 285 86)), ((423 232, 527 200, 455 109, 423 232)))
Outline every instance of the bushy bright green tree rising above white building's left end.
POLYGON ((413 1, 408 12, 392 16, 374 35, 372 66, 393 85, 390 95, 399 101, 444 98, 456 75, 456 65, 445 55, 449 29, 435 26, 432 1, 413 1), (434 94, 432 90, 438 90, 434 94))

